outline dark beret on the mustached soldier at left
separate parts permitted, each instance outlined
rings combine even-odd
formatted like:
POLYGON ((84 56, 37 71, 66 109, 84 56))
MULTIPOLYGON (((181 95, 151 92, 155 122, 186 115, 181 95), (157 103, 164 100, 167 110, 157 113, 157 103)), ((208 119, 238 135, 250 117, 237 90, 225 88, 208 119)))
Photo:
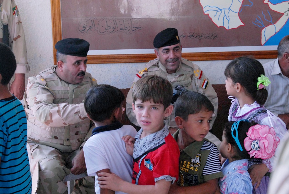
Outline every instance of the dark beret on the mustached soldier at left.
POLYGON ((55 49, 64 55, 86 57, 89 43, 79 38, 65 38, 55 44, 55 49))

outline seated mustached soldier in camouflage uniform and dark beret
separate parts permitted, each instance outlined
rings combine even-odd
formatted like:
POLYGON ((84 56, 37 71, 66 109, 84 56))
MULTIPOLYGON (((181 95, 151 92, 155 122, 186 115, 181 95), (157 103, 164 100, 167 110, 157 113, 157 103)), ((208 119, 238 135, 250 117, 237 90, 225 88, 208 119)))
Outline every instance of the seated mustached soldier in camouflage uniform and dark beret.
MULTIPOLYGON (((55 49, 57 65, 29 77, 24 94, 32 193, 38 194, 67 193, 63 178, 86 172, 82 147, 94 128, 82 103, 97 84, 85 73, 89 43, 66 38, 55 49)), ((74 192, 95 193, 94 182, 86 176, 74 192)))

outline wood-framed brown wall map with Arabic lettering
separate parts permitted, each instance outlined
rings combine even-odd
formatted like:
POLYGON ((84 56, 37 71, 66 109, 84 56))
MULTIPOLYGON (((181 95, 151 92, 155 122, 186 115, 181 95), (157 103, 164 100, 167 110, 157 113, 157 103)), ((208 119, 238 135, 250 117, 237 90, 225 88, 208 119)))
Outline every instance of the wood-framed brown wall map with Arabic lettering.
POLYGON ((87 40, 92 64, 148 62, 155 35, 174 27, 188 60, 276 58, 288 10, 282 0, 51 0, 53 43, 87 40))

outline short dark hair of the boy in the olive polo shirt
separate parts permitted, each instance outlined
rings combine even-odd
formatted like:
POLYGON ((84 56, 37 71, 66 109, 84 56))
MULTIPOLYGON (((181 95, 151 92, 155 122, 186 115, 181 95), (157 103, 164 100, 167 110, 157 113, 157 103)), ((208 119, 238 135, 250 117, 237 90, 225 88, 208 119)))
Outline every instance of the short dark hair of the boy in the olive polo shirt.
POLYGON ((179 116, 185 121, 189 114, 197 114, 201 110, 213 111, 214 106, 203 94, 186 91, 183 92, 175 102, 175 116, 179 116))

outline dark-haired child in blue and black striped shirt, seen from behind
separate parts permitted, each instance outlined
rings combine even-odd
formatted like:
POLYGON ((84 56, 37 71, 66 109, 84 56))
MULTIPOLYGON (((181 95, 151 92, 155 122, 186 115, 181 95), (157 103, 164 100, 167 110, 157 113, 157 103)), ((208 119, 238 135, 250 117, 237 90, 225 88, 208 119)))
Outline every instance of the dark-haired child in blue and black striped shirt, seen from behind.
POLYGON ((0 193, 31 193, 26 149, 27 121, 21 102, 8 83, 16 69, 10 48, 0 43, 0 193))

